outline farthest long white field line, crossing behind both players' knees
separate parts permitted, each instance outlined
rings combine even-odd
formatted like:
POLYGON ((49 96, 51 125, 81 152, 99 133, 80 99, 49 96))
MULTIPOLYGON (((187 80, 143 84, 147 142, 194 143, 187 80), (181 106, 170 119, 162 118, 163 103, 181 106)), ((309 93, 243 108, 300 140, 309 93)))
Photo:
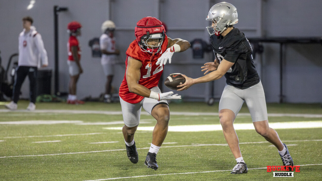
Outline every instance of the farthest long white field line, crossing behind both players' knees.
MULTIPOLYGON (((0 113, 12 113, 11 110, 8 109, 0 109, 0 113)), ((27 110, 16 110, 14 113, 30 113, 27 110)), ((74 113, 74 114, 108 114, 108 115, 121 115, 122 111, 89 111, 89 110, 34 110, 33 113, 74 113)), ((204 113, 204 112, 171 112, 171 115, 186 115, 186 116, 218 116, 219 113, 204 113)), ((141 115, 150 115, 147 112, 141 112, 141 115)), ((250 116, 250 113, 238 113, 240 116, 250 116)), ((268 113, 269 117, 307 117, 307 118, 322 118, 322 114, 295 114, 295 113, 268 113)), ((238 116, 237 116, 238 118, 238 116)))

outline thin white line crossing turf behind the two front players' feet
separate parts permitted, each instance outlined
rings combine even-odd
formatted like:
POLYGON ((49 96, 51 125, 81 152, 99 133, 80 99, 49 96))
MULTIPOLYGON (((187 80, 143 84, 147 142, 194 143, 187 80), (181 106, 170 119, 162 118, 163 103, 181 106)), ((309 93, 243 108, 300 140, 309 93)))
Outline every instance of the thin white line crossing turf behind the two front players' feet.
MULTIPOLYGON (((322 141, 322 140, 292 140, 296 141, 322 141)), ((287 142, 287 141, 283 141, 287 142)), ((253 143, 269 143, 267 141, 259 141, 259 142, 245 142, 239 144, 253 144, 253 143)), ((199 146, 228 146, 228 144, 192 144, 192 145, 177 145, 177 146, 163 146, 162 148, 178 148, 178 147, 199 147, 199 146)), ((149 149, 146 148, 137 148, 137 149, 149 149)), ((71 153, 54 153, 54 154, 43 154, 43 155, 17 155, 17 156, 4 156, 0 158, 13 158, 13 157, 37 157, 37 156, 52 156, 52 155, 70 155, 70 154, 81 154, 81 153, 99 153, 99 152, 109 152, 109 151, 125 151, 126 149, 111 149, 111 150, 101 150, 101 151, 83 151, 83 152, 71 152, 71 153)))

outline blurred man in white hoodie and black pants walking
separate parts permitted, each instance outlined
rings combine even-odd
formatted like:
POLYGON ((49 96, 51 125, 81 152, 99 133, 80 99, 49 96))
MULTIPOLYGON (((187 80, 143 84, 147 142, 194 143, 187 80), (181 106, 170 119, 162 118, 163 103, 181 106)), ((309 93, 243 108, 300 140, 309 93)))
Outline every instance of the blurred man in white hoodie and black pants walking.
POLYGON ((17 109, 20 89, 25 78, 28 76, 30 81, 30 103, 27 110, 33 111, 36 108, 36 78, 39 58, 41 58, 41 67, 47 67, 48 57, 41 35, 36 31, 36 28, 32 26, 33 19, 30 16, 26 16, 22 21, 24 30, 19 35, 17 76, 14 81, 12 101, 9 104, 6 104, 5 107, 10 110, 17 109))

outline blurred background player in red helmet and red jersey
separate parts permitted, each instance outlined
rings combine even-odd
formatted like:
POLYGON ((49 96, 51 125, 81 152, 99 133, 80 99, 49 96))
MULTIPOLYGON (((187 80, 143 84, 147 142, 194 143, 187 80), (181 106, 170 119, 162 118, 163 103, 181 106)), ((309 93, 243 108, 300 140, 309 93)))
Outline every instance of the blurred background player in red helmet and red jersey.
POLYGON ((68 84, 68 98, 67 104, 84 104, 84 101, 78 100, 76 96, 76 84, 83 73, 83 68, 81 67, 81 49, 80 44, 77 39, 81 36, 81 23, 77 21, 72 21, 67 25, 67 32, 69 32, 69 40, 67 42, 68 50, 68 72, 69 72, 69 84, 68 84))

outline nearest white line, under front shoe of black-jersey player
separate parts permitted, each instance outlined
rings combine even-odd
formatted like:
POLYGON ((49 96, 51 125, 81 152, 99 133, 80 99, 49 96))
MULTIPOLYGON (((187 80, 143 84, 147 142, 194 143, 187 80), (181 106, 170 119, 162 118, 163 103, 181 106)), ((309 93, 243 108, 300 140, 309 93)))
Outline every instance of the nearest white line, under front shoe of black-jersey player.
MULTIPOLYGON (((298 165, 298 166, 312 166, 312 165, 322 165, 322 164, 306 164, 306 165, 298 165)), ((249 170, 267 169, 267 167, 262 167, 262 168, 248 168, 248 169, 249 170)), ((138 177, 147 177, 147 176, 197 174, 197 173, 212 173, 212 172, 226 172, 226 171, 232 171, 232 170, 213 170, 213 171, 203 171, 203 172, 185 172, 185 173, 173 173, 173 174, 156 174, 156 175, 126 176, 126 177, 105 178, 105 179, 98 179, 98 180, 85 180, 85 181, 103 181, 103 180, 116 180, 116 179, 122 179, 122 178, 138 178, 138 177)))

